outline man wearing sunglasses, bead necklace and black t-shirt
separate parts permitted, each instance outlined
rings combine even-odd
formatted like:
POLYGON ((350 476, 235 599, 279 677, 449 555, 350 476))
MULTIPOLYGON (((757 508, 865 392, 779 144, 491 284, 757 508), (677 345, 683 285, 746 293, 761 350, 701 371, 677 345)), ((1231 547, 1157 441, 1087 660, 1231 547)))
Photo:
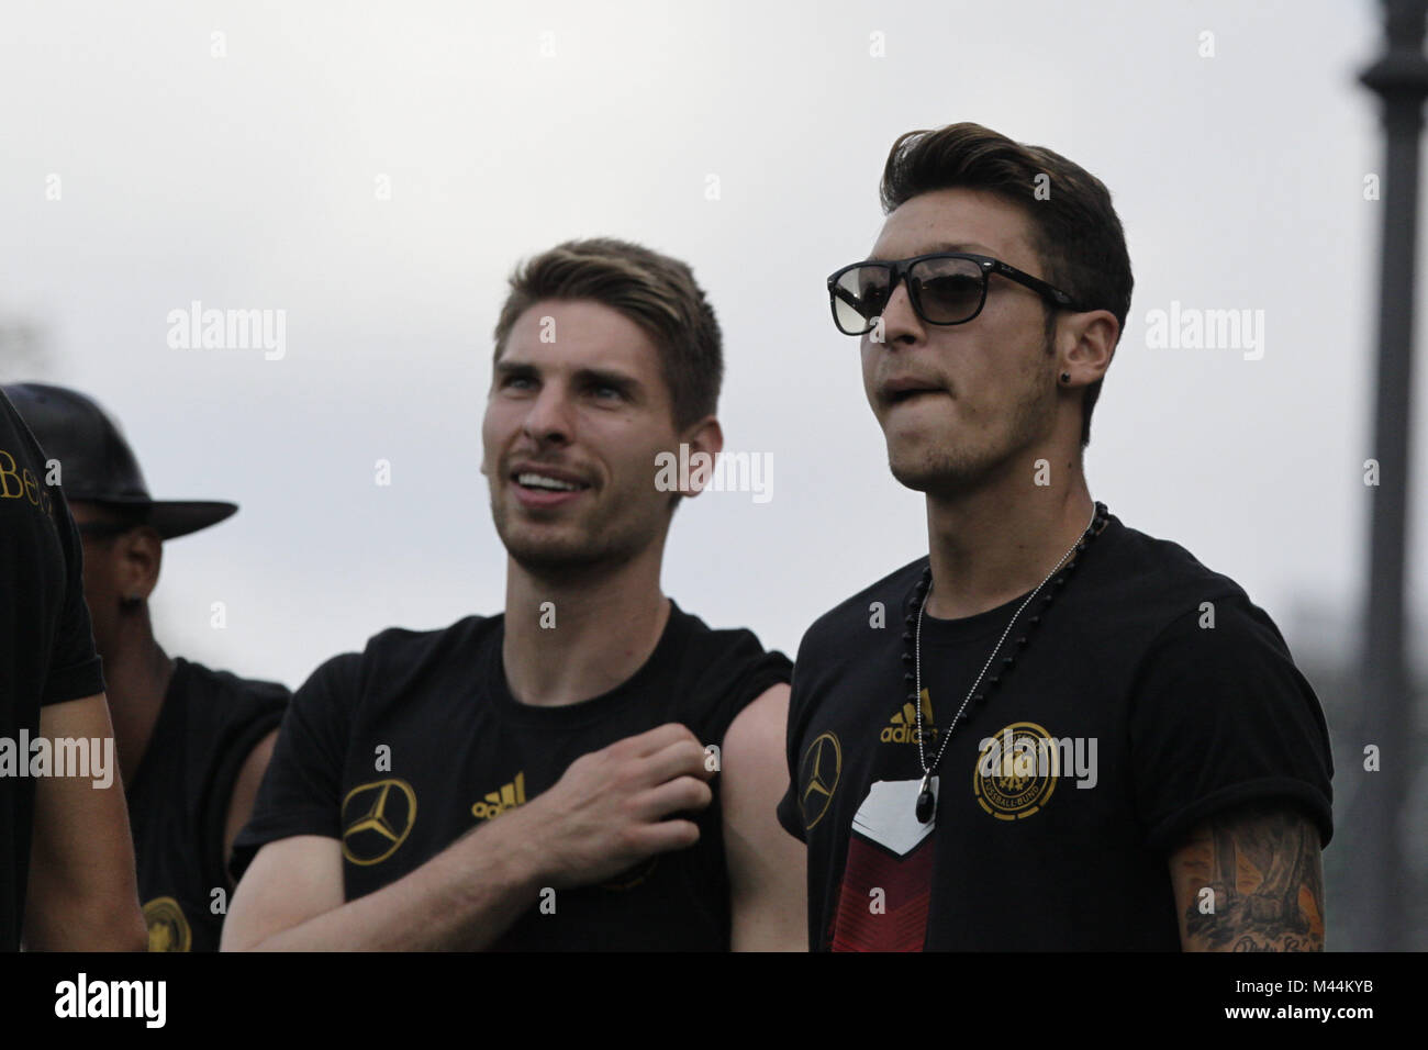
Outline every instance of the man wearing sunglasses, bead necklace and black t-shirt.
POLYGON ((828 279, 930 554, 798 651, 780 820, 824 950, 1308 950, 1324 716, 1228 577, 1082 471, 1131 300, 1110 193, 978 124, 912 131, 828 279))

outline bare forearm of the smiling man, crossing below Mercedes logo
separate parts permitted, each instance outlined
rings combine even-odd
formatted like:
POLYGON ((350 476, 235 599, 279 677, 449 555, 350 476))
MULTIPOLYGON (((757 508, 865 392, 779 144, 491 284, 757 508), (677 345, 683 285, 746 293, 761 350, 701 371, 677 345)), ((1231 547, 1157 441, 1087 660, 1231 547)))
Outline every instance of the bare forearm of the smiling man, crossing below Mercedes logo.
MULTIPOLYGON (((504 819, 510 821, 510 817, 504 819)), ((493 944, 540 896, 540 869, 493 821, 411 874, 273 933, 247 951, 476 951, 493 944)))

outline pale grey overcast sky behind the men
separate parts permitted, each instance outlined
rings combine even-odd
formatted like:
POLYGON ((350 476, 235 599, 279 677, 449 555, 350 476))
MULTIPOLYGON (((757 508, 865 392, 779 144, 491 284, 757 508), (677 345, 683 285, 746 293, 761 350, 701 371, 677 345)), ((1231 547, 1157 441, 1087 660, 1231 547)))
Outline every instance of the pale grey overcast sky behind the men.
MULTIPOLYGON (((774 466, 767 503, 680 511, 665 590, 793 653, 927 550, 824 277, 877 236, 891 141, 975 120, 1101 177, 1125 226, 1092 496, 1302 657, 1297 610, 1364 599, 1379 34, 1368 0, 7 4, 0 326, 47 354, 0 364, 104 403, 157 499, 241 504, 166 546, 160 641, 297 686, 383 627, 500 610, 478 464, 506 276, 643 241, 708 290, 727 449, 774 466), (170 346, 194 300, 286 311, 283 357, 170 346), (1262 317, 1262 356, 1154 346, 1172 303, 1262 317)), ((1421 411, 1414 461, 1421 596, 1421 411)))

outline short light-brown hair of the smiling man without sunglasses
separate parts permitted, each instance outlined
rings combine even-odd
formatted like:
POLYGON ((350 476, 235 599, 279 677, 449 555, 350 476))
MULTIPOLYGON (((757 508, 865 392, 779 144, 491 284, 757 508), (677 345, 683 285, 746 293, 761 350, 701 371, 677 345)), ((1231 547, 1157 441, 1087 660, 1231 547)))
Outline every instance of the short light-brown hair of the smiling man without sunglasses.
POLYGON ((496 360, 516 320, 536 303, 588 299, 618 310, 654 340, 677 429, 714 414, 723 336, 685 263, 613 237, 568 240, 517 266, 510 284, 496 323, 496 360))

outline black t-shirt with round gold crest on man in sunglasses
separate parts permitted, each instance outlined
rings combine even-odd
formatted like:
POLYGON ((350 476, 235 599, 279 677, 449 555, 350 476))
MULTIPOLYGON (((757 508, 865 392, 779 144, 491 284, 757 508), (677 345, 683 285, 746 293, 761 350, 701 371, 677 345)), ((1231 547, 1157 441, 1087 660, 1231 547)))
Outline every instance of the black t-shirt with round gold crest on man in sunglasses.
MULTIPOLYGON (((1038 596, 1022 613, 1041 624, 1008 636, 1028 643, 958 720, 918 839, 902 633, 925 567, 848 599, 798 650, 778 817, 808 844, 815 950, 1175 951, 1167 860, 1207 816, 1282 800, 1328 843, 1324 714, 1278 629, 1232 580, 1115 516, 1045 611, 1038 596)), ((924 620, 928 760, 1025 597, 924 620)))

